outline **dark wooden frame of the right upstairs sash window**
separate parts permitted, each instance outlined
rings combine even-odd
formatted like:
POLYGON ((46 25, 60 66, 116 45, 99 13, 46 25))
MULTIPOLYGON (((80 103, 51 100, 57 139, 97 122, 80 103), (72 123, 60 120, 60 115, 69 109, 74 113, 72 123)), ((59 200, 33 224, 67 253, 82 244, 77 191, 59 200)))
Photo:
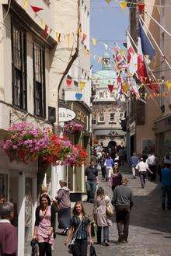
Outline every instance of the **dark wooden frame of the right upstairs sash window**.
POLYGON ((40 44, 38 40, 33 40, 33 103, 34 103, 34 114, 37 117, 46 117, 46 79, 45 79, 45 73, 46 73, 46 68, 45 68, 45 47, 40 44), (40 48, 40 62, 41 62, 41 67, 40 67, 40 76, 42 81, 39 82, 36 80, 36 58, 35 58, 35 46, 40 48), (43 61, 43 62, 42 62, 43 61), (41 110, 39 110, 40 113, 38 113, 37 110, 37 98, 36 98, 36 89, 39 86, 38 83, 41 85, 41 110))

